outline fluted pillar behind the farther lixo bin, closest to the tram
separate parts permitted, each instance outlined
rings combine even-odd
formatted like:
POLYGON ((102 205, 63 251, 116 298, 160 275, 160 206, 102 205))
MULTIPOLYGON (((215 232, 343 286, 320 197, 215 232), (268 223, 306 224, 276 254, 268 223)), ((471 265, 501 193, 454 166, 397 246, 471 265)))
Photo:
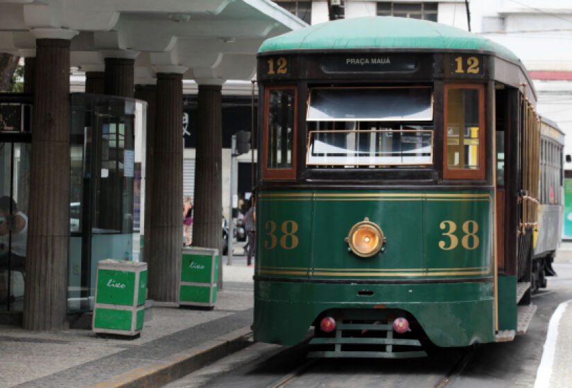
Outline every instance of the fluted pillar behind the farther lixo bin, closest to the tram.
MULTIPOLYGON (((220 222, 223 211, 221 89, 222 85, 198 87, 193 215, 193 245, 218 248, 219 251, 222 249, 220 222)), ((222 266, 219 268, 222 269, 222 266)))

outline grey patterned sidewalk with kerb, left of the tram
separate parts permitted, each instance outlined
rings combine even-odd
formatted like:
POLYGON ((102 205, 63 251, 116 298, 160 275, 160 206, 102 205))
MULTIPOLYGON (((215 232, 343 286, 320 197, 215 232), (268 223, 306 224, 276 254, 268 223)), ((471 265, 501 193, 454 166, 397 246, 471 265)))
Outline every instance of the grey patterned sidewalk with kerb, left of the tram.
POLYGON ((155 306, 136 340, 0 326, 1 387, 153 387, 248 346, 254 268, 244 256, 226 260, 214 310, 155 306))

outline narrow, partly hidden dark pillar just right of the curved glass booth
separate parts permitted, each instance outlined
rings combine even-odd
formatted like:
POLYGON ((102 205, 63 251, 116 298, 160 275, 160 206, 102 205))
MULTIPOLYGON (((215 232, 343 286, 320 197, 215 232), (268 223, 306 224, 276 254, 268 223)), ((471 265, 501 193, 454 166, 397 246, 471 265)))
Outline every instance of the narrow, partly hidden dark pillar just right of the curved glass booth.
POLYGON ((135 85, 135 98, 147 102, 147 134, 145 139, 146 161, 145 161, 145 220, 144 220, 144 259, 147 256, 150 246, 149 236, 151 235, 151 207, 153 206, 153 150, 155 145, 155 112, 157 87, 155 85, 135 85))

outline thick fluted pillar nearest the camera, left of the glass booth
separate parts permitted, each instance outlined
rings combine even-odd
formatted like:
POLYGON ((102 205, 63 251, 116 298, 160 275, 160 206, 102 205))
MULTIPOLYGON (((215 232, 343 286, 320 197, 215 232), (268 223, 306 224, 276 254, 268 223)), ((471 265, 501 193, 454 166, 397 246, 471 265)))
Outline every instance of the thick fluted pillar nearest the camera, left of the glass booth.
POLYGON ((28 330, 67 328, 69 39, 75 32, 61 35, 69 37, 36 41, 24 296, 28 330))

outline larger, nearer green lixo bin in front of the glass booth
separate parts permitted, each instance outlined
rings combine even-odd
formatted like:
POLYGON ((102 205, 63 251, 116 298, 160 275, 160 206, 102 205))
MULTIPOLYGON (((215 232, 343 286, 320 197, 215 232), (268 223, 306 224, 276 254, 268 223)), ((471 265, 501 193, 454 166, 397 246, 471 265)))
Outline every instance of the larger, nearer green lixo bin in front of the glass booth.
POLYGON ((145 315, 147 263, 107 259, 97 263, 95 333, 137 335, 145 315))

